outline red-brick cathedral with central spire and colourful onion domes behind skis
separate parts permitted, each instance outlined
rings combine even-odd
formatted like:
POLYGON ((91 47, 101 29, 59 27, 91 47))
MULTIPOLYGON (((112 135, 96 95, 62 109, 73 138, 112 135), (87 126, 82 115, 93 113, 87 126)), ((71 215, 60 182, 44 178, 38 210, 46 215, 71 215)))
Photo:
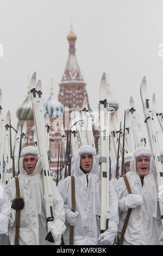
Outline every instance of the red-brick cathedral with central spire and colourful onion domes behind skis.
MULTIPOLYGON (((58 95, 58 100, 55 99, 53 94, 53 87, 51 88, 51 95, 47 101, 45 101, 44 106, 46 112, 49 114, 49 119, 51 124, 53 124, 54 120, 58 118, 60 115, 64 116, 65 107, 69 108, 69 111, 75 111, 78 109, 82 111, 83 100, 84 97, 87 99, 88 108, 91 111, 89 96, 86 91, 86 83, 84 82, 84 78, 82 73, 80 72, 80 68, 78 65, 77 57, 76 57, 76 40, 77 35, 74 34, 72 25, 71 31, 67 35, 67 40, 69 44, 69 56, 66 63, 66 68, 64 74, 62 76, 61 82, 59 83, 60 90, 58 95)), ((109 84, 107 84, 106 96, 109 102, 109 106, 113 107, 115 110, 118 109, 118 102, 112 95, 109 84)), ((98 104, 98 103, 97 103, 98 104)), ((18 125, 23 125, 24 121, 27 121, 27 132, 26 139, 24 143, 24 147, 27 143, 27 133, 28 133, 28 145, 34 145, 34 119, 33 119, 33 109, 32 109, 32 101, 30 96, 30 90, 28 86, 28 94, 22 105, 17 109, 16 112, 18 118, 18 125)), ((64 118, 63 118, 64 120, 64 118)), ((51 162, 49 166, 52 171, 57 171, 58 164, 58 148, 59 143, 62 139, 62 134, 59 129, 55 130, 54 126, 50 126, 51 140, 49 144, 51 162)), ((99 139, 99 131, 93 131, 95 136, 95 145, 96 149, 98 148, 98 139, 99 139)))

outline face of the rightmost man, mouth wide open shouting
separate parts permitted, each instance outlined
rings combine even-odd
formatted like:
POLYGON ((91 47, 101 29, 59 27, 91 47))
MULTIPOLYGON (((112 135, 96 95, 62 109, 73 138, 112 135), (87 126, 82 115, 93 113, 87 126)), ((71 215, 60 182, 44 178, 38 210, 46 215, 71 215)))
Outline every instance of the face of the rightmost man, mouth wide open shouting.
POLYGON ((148 156, 140 156, 136 159, 136 170, 140 175, 146 176, 150 168, 150 159, 148 156))

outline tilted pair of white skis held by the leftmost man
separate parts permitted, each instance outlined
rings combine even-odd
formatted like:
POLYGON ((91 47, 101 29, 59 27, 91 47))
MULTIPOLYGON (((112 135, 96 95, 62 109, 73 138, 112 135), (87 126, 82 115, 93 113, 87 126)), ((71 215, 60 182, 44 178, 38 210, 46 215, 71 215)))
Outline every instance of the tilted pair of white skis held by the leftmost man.
POLYGON ((45 199, 45 209, 46 209, 46 221, 48 233, 51 231, 51 223, 54 220, 53 212, 53 196, 51 190, 50 177, 49 177, 49 162, 48 153, 46 146, 46 129, 45 129, 45 110, 43 108, 42 99, 42 86, 41 81, 37 83, 36 86, 36 72, 34 72, 31 82, 30 82, 30 94, 32 97, 32 106, 34 113, 34 123, 37 133, 37 144, 39 148, 39 153, 42 159, 43 171, 43 198, 45 199))

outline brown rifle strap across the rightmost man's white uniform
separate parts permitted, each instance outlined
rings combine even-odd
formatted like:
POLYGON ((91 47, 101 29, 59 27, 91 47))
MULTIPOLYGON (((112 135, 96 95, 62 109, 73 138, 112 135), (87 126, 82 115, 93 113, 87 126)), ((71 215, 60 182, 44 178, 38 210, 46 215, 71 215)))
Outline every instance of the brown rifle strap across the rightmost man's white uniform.
MULTIPOLYGON (((128 193, 131 194, 132 192, 131 192, 131 188, 130 188, 127 176, 126 175, 121 175, 121 177, 123 177, 123 179, 124 179, 124 182, 126 184, 128 193)), ((120 237, 120 241, 119 241, 118 245, 123 245, 124 234, 125 234, 126 229, 127 229, 130 213, 131 213, 131 209, 128 209, 127 216, 126 216, 126 219, 125 219, 124 224, 123 224, 122 233, 121 233, 121 237, 120 237)))

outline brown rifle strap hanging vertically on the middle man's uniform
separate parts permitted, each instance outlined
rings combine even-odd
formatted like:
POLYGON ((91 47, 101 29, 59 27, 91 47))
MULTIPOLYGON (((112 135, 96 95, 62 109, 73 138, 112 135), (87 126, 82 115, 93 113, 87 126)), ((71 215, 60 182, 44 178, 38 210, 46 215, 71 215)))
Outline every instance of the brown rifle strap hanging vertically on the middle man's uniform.
MULTIPOLYGON (((72 211, 76 212, 76 196, 75 196, 75 181, 74 176, 71 176, 71 202, 72 202, 72 211)), ((73 245, 73 235, 74 227, 70 226, 70 245, 73 245)))

